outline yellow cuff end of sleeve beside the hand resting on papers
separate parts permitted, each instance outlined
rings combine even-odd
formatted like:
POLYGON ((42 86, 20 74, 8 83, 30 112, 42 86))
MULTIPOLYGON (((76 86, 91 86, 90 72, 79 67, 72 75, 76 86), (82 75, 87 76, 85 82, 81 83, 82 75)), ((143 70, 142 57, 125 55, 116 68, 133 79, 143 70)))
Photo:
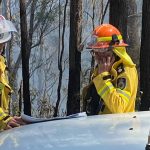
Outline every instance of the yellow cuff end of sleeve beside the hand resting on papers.
POLYGON ((12 119, 8 114, 4 113, 3 109, 0 108, 0 131, 4 130, 7 123, 12 119))

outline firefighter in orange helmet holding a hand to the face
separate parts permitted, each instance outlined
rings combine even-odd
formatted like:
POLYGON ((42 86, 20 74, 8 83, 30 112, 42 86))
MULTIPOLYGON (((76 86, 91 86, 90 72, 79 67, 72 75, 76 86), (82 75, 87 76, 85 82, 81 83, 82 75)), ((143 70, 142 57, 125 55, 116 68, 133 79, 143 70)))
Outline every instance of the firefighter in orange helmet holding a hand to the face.
POLYGON ((126 53, 126 46, 119 30, 110 24, 102 24, 93 31, 87 48, 92 49, 97 66, 92 82, 83 90, 87 114, 135 111, 138 75, 135 64, 126 53), (94 112, 90 112, 91 107, 94 112))

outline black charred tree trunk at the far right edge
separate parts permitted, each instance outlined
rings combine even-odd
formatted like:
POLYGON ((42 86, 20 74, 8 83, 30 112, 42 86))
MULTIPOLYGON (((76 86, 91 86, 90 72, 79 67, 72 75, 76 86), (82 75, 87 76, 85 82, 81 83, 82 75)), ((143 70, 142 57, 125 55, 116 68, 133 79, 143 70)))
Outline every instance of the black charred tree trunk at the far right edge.
POLYGON ((140 50, 140 89, 143 91, 140 110, 150 108, 150 1, 143 0, 140 50))

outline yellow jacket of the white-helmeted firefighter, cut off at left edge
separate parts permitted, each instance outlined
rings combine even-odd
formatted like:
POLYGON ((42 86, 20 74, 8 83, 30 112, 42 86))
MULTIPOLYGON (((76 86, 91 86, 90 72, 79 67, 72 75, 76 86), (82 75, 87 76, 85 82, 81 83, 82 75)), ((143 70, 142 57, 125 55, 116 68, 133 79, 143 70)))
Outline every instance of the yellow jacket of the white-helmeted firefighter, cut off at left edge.
POLYGON ((11 92, 6 74, 5 58, 0 55, 0 130, 3 130, 12 118, 9 116, 9 95, 11 92))

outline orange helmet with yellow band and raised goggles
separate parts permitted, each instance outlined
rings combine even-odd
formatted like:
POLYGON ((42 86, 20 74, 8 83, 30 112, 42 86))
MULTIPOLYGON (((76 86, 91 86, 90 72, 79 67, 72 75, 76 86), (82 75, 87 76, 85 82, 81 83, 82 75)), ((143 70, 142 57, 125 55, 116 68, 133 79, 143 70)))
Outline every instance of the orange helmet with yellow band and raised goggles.
POLYGON ((103 49, 109 47, 125 47, 128 44, 123 42, 121 33, 111 24, 102 24, 96 27, 92 39, 88 43, 90 49, 103 49))

